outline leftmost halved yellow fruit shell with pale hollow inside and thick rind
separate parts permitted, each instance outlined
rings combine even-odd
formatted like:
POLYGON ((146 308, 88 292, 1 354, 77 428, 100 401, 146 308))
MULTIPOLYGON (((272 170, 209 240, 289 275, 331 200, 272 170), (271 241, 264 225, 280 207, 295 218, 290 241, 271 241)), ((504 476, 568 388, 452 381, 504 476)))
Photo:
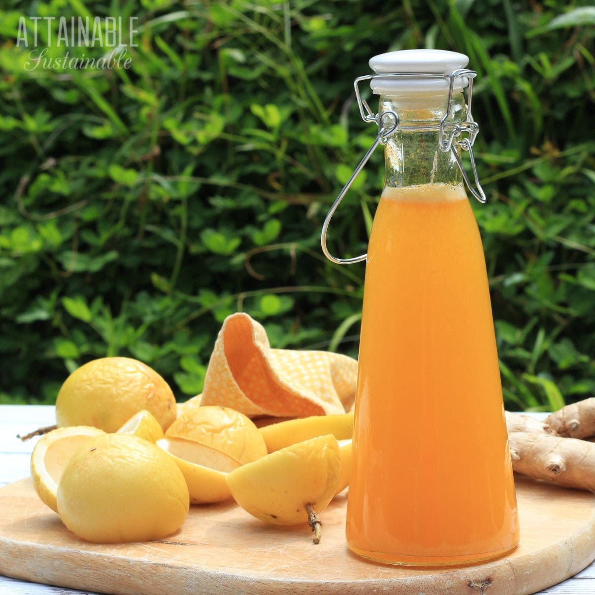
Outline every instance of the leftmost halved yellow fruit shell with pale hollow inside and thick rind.
POLYGON ((33 487, 42 502, 58 512, 56 492, 62 472, 71 456, 90 439, 105 434, 89 425, 57 428, 37 442, 31 454, 33 487))

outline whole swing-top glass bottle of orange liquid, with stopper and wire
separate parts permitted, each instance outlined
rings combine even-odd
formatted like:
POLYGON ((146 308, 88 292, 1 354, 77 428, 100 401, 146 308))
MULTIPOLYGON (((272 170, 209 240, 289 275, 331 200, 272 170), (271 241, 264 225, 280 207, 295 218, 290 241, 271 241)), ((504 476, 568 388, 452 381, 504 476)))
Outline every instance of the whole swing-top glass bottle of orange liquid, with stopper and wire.
POLYGON ((367 255, 347 500, 347 545, 380 562, 449 565, 519 539, 481 238, 461 162, 478 132, 468 58, 412 50, 372 58, 356 79, 384 145, 386 181, 367 255), (373 114, 358 83, 380 95, 373 114), (464 87, 469 86, 465 104, 464 87))

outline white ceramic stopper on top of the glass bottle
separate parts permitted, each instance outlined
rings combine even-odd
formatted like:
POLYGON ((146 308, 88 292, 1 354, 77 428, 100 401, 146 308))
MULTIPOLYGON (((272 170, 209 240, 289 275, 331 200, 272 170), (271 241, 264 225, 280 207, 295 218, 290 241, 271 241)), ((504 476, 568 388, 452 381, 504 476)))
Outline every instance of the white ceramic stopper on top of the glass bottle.
MULTIPOLYGON (((369 61, 375 73, 432 73, 450 74, 465 68, 469 58, 465 54, 445 49, 402 49, 378 54, 369 61)), ((453 91, 460 92, 469 83, 457 77, 453 91)), ((372 79, 370 87, 377 95, 441 95, 448 93, 449 80, 424 77, 381 77, 372 79)))

